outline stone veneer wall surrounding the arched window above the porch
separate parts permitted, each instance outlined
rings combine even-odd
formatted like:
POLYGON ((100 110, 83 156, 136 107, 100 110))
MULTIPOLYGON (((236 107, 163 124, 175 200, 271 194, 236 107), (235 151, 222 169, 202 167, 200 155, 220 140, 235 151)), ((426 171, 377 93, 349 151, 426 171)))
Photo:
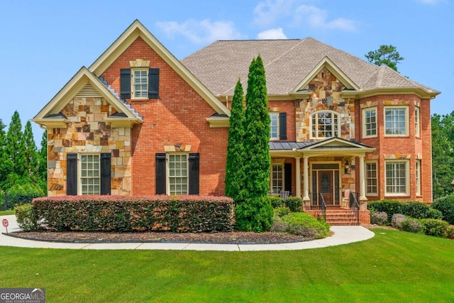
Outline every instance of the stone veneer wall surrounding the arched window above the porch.
POLYGON ((308 99, 297 100, 296 136, 297 142, 311 141, 310 115, 314 111, 331 110, 340 114, 341 138, 355 138, 355 99, 341 98, 345 86, 324 67, 309 82, 306 89, 311 92, 308 99))

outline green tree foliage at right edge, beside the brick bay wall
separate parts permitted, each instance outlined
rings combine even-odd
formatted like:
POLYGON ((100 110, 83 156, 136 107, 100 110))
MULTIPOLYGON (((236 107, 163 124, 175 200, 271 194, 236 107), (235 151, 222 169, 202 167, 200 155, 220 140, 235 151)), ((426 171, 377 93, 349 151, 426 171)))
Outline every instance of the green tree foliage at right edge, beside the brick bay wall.
POLYGON ((433 199, 454 193, 454 111, 434 114, 432 123, 433 199))

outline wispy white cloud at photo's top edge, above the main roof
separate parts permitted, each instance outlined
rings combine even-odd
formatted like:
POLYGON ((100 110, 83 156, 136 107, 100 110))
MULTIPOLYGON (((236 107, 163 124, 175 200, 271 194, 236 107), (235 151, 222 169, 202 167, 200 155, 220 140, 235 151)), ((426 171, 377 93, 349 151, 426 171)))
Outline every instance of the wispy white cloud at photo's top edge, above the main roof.
MULTIPOLYGON (((419 0, 437 1, 437 0, 419 0)), ((440 0, 438 0, 440 1, 440 0)), ((292 20, 292 26, 309 23, 309 26, 320 29, 338 29, 341 31, 356 31, 356 22, 346 18, 328 19, 328 11, 316 6, 306 5, 309 0, 265 0, 254 9, 254 21, 259 26, 267 26, 275 21, 287 18, 292 20)))

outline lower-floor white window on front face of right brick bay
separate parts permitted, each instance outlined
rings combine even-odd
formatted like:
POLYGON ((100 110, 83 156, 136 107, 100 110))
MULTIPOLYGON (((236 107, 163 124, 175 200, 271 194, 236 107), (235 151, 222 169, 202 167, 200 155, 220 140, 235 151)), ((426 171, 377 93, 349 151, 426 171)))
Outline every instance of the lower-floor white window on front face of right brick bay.
POLYGON ((385 162, 385 195, 409 194, 409 161, 389 160, 385 162))

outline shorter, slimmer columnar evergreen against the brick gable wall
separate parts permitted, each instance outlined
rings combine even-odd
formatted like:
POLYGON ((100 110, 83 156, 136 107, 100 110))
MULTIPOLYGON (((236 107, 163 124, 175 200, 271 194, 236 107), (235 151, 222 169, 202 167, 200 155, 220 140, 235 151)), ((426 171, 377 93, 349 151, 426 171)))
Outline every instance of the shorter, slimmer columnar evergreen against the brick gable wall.
POLYGON ((226 196, 239 202, 245 182, 245 110, 243 104, 243 86, 240 80, 236 83, 233 94, 232 110, 228 128, 228 147, 226 161, 226 196))

